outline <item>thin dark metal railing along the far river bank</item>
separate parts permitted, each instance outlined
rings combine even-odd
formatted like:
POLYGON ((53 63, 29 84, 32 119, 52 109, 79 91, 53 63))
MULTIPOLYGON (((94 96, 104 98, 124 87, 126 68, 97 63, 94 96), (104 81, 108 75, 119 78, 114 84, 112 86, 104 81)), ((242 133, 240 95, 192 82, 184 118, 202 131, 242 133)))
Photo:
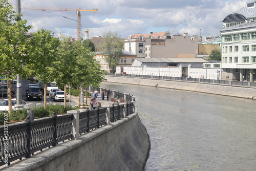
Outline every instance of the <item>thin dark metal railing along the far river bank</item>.
POLYGON ((204 82, 204 83, 215 83, 225 84, 233 86, 243 87, 255 87, 256 82, 248 81, 234 81, 234 80, 221 80, 221 79, 199 79, 199 78, 187 78, 187 77, 168 77, 168 76, 156 76, 156 75, 136 75, 136 74, 111 74, 110 76, 122 76, 122 77, 134 77, 134 78, 151 78, 151 79, 165 79, 165 80, 176 80, 176 81, 189 81, 189 82, 204 82))

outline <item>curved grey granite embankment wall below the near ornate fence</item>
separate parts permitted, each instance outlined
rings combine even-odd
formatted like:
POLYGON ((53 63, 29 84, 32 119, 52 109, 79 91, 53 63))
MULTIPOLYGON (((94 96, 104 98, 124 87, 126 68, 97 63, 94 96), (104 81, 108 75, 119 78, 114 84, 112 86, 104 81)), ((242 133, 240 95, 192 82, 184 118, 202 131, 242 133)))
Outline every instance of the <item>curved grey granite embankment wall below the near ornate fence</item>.
POLYGON ((143 170, 150 140, 137 113, 58 144, 4 170, 143 170))

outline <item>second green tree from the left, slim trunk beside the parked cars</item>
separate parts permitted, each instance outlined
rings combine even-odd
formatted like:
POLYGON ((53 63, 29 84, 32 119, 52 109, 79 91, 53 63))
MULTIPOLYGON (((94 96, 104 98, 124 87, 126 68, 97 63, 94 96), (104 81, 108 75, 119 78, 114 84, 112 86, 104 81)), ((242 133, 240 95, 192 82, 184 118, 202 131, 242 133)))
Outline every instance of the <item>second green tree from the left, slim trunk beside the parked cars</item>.
MULTIPOLYGON (((38 77, 45 84, 55 81, 54 76, 57 69, 54 67, 54 62, 58 59, 60 44, 60 40, 52 37, 50 33, 51 31, 45 29, 38 30, 28 42, 30 58, 26 67, 31 69, 31 75, 38 77)), ((44 88, 44 106, 46 109, 46 86, 44 88)))

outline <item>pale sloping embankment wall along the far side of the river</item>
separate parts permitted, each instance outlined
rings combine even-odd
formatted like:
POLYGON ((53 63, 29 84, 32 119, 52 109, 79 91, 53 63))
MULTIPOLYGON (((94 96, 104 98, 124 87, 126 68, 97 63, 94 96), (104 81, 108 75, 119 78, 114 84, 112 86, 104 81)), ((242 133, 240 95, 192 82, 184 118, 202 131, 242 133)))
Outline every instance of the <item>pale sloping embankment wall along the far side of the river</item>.
POLYGON ((256 98, 256 88, 232 86, 214 83, 175 81, 150 78, 133 78, 133 77, 117 77, 105 76, 106 82, 136 84, 141 86, 152 86, 159 88, 186 90, 201 93, 218 94, 224 96, 233 96, 241 98, 256 98))

